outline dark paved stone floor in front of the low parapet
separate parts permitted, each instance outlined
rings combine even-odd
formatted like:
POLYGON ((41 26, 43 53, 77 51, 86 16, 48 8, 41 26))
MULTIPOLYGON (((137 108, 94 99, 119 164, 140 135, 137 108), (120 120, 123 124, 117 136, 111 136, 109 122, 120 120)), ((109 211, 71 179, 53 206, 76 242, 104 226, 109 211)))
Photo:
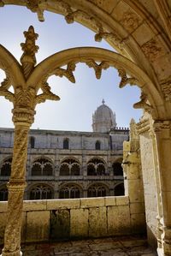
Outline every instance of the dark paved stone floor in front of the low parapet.
POLYGON ((22 246, 23 256, 155 256, 143 237, 89 239, 22 246))

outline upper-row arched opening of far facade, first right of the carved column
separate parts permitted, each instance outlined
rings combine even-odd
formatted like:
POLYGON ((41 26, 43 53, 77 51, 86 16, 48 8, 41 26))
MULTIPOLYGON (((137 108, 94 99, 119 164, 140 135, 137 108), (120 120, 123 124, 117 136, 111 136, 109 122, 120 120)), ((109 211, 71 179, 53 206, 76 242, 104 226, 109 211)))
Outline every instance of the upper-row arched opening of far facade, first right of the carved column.
POLYGON ((32 176, 52 176, 53 164, 49 159, 38 158, 32 164, 32 176))

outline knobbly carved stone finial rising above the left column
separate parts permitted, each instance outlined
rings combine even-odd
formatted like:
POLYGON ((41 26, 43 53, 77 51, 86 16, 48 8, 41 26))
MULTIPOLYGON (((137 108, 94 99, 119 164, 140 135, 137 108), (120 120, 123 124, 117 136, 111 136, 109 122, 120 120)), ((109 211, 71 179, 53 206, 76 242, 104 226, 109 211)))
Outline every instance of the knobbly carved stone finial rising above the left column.
POLYGON ((35 41, 38 39, 38 33, 34 33, 34 27, 30 26, 28 31, 24 32, 24 36, 26 42, 21 43, 22 51, 24 51, 21 56, 21 64, 25 77, 28 78, 36 64, 35 53, 38 51, 38 45, 35 45, 35 41))

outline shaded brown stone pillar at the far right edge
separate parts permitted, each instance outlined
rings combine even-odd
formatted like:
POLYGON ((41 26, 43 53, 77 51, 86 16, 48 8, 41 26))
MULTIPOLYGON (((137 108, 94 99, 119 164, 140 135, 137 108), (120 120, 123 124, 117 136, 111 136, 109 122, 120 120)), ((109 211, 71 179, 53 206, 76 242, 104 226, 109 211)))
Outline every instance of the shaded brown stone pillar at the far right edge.
POLYGON ((155 121, 162 201, 162 248, 158 254, 171 255, 171 121, 155 121))

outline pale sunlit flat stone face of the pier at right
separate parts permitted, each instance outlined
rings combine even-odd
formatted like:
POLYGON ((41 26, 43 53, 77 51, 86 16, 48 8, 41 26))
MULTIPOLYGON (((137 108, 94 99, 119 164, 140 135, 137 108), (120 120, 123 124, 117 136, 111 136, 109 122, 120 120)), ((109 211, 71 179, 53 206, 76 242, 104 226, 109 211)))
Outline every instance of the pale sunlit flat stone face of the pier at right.
MULTIPOLYGON (((138 123, 140 155, 144 183, 144 205, 147 223, 148 241, 156 247, 157 241, 157 157, 156 141, 150 116, 146 113, 138 123)), ((159 189, 159 188, 158 188, 159 189)))

